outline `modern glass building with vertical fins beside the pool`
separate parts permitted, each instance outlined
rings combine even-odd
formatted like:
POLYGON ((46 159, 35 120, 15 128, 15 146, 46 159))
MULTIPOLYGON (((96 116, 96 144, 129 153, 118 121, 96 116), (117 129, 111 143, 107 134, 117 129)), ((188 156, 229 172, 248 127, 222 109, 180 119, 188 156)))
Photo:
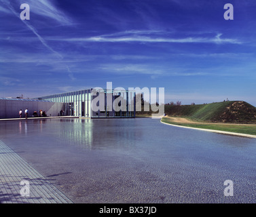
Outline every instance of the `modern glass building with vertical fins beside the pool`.
POLYGON ((75 117, 135 117, 135 92, 127 90, 88 89, 50 96, 39 100, 62 102, 60 116, 75 117))

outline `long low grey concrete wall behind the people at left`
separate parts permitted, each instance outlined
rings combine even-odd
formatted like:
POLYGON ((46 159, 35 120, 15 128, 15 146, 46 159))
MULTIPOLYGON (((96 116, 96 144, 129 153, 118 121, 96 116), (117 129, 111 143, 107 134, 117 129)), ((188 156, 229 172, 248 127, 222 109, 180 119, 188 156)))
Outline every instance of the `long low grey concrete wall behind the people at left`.
POLYGON ((47 116, 58 116, 65 107, 61 102, 0 100, 0 118, 17 118, 20 109, 22 109, 22 117, 25 117, 25 109, 29 110, 29 117, 32 117, 34 111, 39 115, 40 109, 45 111, 47 116))

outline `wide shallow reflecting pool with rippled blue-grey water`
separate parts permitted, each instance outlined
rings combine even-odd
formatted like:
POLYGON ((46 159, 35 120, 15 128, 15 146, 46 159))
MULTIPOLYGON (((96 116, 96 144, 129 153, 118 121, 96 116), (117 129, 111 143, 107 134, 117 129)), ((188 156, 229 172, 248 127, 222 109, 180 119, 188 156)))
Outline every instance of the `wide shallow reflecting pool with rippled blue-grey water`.
POLYGON ((255 138, 136 118, 1 121, 0 140, 76 203, 256 203, 255 138))

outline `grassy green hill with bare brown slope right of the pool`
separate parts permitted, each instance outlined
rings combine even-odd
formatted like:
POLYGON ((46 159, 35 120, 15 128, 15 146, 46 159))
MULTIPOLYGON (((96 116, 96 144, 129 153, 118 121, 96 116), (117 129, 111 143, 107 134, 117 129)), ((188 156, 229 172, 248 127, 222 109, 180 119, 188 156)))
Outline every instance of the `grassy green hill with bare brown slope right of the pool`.
POLYGON ((188 117, 196 121, 256 123, 256 108, 244 101, 213 102, 196 105, 165 105, 166 115, 188 117))

